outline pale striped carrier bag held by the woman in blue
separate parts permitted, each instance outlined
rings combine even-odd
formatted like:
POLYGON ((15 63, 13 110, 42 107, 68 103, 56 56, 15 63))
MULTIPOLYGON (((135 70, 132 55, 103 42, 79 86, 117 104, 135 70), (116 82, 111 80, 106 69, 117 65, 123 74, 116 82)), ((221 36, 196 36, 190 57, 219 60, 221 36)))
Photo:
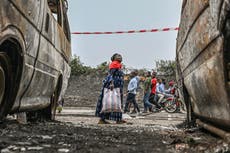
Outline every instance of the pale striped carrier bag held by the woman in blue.
POLYGON ((120 88, 104 88, 101 113, 121 112, 120 88))

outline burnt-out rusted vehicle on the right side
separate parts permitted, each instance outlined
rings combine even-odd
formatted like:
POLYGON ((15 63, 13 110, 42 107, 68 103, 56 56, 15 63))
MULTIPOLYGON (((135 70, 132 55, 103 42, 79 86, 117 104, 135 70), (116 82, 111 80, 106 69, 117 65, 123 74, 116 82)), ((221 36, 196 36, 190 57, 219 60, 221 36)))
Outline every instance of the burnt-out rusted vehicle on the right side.
POLYGON ((229 0, 183 1, 176 57, 188 121, 229 130, 229 0))

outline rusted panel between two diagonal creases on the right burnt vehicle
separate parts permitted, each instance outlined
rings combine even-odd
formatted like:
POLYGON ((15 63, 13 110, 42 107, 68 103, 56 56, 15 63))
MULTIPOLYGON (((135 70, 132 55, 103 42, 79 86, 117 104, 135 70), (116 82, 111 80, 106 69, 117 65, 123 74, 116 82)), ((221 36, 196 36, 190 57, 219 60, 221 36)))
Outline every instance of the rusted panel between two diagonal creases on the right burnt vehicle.
POLYGON ((213 24, 212 18, 210 17, 210 11, 206 9, 199 19, 197 19, 194 26, 191 27, 181 51, 178 52, 182 71, 219 35, 215 27, 216 25, 213 24))

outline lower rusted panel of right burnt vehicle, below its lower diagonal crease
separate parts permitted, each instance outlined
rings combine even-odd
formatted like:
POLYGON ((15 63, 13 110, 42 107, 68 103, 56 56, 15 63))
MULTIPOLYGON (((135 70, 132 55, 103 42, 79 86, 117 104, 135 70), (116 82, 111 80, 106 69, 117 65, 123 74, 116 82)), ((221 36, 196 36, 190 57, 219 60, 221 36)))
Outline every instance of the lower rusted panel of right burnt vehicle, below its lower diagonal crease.
POLYGON ((206 50, 206 55, 201 55, 201 59, 205 59, 201 65, 198 61, 194 62, 194 69, 185 77, 184 83, 189 87, 194 112, 209 118, 229 120, 230 105, 223 77, 223 63, 220 62, 223 60, 221 42, 219 38, 206 50), (209 56, 208 52, 214 56, 209 56))

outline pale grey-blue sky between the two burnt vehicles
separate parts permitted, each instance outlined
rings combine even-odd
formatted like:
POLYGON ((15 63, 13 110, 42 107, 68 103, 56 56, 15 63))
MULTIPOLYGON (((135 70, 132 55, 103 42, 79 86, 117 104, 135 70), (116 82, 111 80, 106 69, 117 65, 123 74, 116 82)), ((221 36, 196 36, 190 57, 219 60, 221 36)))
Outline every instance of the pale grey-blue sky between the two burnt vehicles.
MULTIPOLYGON (((69 0, 71 32, 128 31, 177 27, 182 0, 69 0)), ((72 35, 72 53, 95 67, 114 53, 127 67, 152 69, 174 60, 177 31, 115 35, 72 35)))

